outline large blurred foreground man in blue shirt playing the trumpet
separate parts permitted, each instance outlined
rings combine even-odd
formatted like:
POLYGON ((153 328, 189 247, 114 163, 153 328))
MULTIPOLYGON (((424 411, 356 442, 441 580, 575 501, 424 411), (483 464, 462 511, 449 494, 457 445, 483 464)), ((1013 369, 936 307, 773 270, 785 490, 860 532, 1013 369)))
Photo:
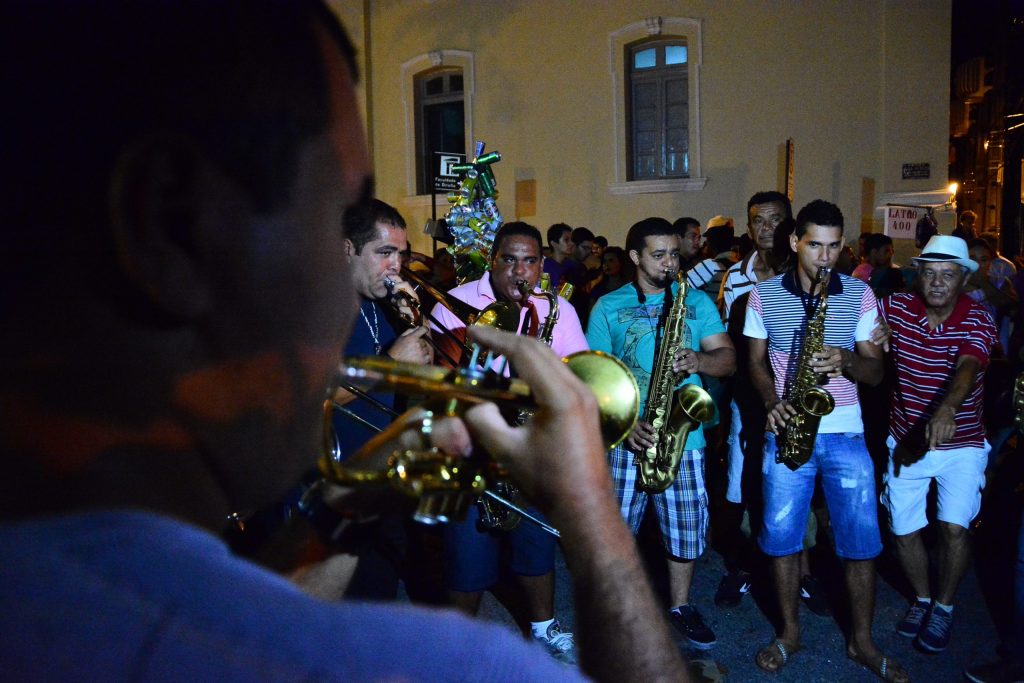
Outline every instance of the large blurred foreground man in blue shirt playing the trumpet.
MULTIPOLYGON (((453 612, 321 602, 217 538, 312 465, 357 314, 338 220, 369 161, 330 10, 10 3, 0 45, 27 65, 0 75, 24 95, 0 129, 0 678, 579 679, 453 612)), ((584 673, 685 680, 593 394, 535 340, 478 339, 537 414, 478 405, 434 442, 472 434, 561 529, 584 673)))

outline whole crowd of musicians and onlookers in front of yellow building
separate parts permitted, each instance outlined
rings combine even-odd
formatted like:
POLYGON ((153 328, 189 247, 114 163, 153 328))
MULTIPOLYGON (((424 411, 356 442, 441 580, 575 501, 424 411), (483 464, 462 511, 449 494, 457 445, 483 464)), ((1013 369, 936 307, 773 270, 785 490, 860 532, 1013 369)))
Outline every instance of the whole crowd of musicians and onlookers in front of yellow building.
MULTIPOLYGON (((460 284, 447 250, 413 252, 373 198, 352 46, 322 3, 15 9, 0 43, 32 68, 2 77, 20 93, 0 145, 4 678, 684 681, 677 641, 718 640, 690 595, 713 509, 716 604, 764 581, 781 614, 751 651, 763 671, 799 656, 802 599, 828 609, 807 560, 825 528, 848 657, 909 680, 871 635, 884 543, 913 593, 892 627, 948 646, 986 471, 1015 438, 983 397, 993 364, 1020 373, 1024 328, 1024 279, 975 220, 920 245, 912 271, 868 234, 852 274, 840 208, 794 216, 777 191, 750 198, 741 236, 726 216, 648 217, 618 247, 510 221, 460 284), (585 351, 635 380, 626 433, 607 435, 561 361, 585 351), (339 372, 356 356, 514 380, 530 401, 367 392, 339 372), (708 415, 680 414, 683 394, 708 415), (884 420, 865 395, 886 397, 884 420), (396 477, 417 474, 394 454, 456 470, 486 454, 503 500, 428 490, 455 511, 417 508, 446 522, 431 536, 417 503, 326 481, 325 440, 325 461, 383 454, 396 477), (637 549, 645 518, 666 605, 637 549), (574 633, 555 613, 559 545, 574 633), (397 604, 425 557, 438 594, 397 604), (506 575, 525 639, 474 618, 506 575)), ((1007 656, 973 681, 1024 674, 1017 570, 1007 656)))

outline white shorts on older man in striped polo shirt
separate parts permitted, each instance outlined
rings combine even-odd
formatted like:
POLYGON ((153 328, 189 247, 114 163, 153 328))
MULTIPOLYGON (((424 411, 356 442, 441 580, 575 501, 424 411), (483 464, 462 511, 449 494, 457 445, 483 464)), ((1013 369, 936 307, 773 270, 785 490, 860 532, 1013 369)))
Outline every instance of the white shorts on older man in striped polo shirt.
POLYGON ((883 480, 882 505, 889 511, 889 527, 896 536, 906 536, 928 525, 925 506, 928 488, 935 479, 938 487, 939 521, 968 528, 981 509, 981 489, 985 487, 985 466, 991 446, 929 451, 913 465, 900 467, 896 476, 889 446, 889 471, 883 480))

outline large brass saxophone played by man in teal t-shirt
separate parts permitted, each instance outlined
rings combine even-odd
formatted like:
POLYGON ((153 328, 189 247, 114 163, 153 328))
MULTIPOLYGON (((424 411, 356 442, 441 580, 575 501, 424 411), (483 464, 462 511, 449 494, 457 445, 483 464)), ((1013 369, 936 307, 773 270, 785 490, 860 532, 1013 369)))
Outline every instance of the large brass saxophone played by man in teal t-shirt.
MULTIPOLYGON (((644 420, 654 428, 657 441, 634 459, 637 488, 648 494, 659 494, 672 485, 679 475, 686 437, 699 423, 711 419, 715 408, 711 395, 695 384, 684 384, 676 390, 679 377, 672 372, 672 361, 683 343, 688 289, 685 273, 677 273, 676 281, 679 294, 665 316, 644 409, 644 420)), ((671 283, 665 290, 665 297, 668 305, 672 297, 671 283)))

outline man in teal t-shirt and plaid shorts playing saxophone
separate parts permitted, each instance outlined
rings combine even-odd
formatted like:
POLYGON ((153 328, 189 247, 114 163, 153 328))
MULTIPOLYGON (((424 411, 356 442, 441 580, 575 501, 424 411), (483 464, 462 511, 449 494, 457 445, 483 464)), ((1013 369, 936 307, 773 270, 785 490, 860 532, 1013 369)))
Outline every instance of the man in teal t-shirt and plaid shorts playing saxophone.
MULTIPOLYGON (((594 350, 611 353, 629 367, 640 386, 643 405, 656 353, 665 289, 671 285, 674 294, 679 291, 675 278, 679 271, 680 238, 668 220, 646 218, 630 228, 626 249, 637 266, 637 279, 598 299, 591 311, 587 340, 594 350)), ((712 377, 731 375, 736 355, 715 303, 693 288, 688 289, 685 303, 683 339, 672 362, 672 371, 685 377, 680 384, 699 386, 698 372, 712 377)), ((689 603, 693 560, 703 552, 708 531, 703 430, 698 425, 690 431, 679 474, 668 489, 647 494, 637 487, 635 458, 653 447, 656 440, 651 425, 641 420, 625 444, 611 450, 615 496, 634 533, 640 528, 648 502, 654 505, 669 561, 671 621, 690 645, 708 649, 716 642, 715 634, 689 603)))

